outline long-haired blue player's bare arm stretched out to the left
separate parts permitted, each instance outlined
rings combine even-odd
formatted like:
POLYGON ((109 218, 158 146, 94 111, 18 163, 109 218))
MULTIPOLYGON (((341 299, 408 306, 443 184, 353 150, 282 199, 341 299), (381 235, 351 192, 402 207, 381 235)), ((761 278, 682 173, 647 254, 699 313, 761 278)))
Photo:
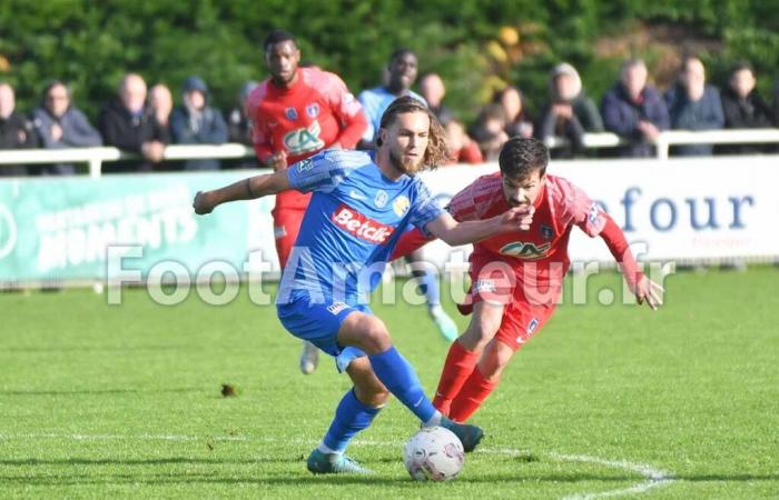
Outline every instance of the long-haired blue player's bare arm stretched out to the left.
POLYGON ((198 191, 193 200, 195 213, 203 216, 210 213, 221 203, 238 200, 254 200, 256 198, 276 194, 289 189, 289 177, 286 170, 274 173, 255 176, 234 182, 213 191, 198 191))

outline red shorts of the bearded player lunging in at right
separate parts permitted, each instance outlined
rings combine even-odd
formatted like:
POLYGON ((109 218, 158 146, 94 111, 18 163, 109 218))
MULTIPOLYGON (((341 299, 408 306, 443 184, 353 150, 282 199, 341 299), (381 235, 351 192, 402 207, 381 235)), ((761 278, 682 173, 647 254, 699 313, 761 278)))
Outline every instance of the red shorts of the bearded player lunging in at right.
POLYGON ((527 272, 495 256, 471 256, 471 290, 465 302, 458 306, 467 314, 473 304, 486 301, 505 307, 495 339, 514 351, 535 336, 552 317, 560 298, 562 283, 529 287, 527 272))

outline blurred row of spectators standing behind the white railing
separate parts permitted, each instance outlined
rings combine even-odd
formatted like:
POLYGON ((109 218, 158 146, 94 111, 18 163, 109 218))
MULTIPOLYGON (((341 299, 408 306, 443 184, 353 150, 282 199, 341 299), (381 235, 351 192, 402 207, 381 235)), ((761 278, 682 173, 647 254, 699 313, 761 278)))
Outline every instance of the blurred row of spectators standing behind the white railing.
MULTIPOLYGON (((779 83, 771 99, 763 100, 756 89, 753 68, 738 63, 721 89, 707 81, 702 61, 686 57, 676 83, 661 92, 649 83, 647 66, 640 59, 624 61, 614 84, 602 96, 600 106, 588 96, 576 69, 560 63, 549 73, 545 102, 526 102, 521 89, 509 86, 495 92, 473 123, 465 123, 446 106, 446 84, 436 73, 417 81, 416 56, 401 51, 403 60, 391 60, 379 87, 361 92, 366 109, 371 96, 393 89, 392 94, 411 93, 424 100, 445 128, 452 163, 481 163, 497 158, 501 146, 514 136, 544 141, 562 138, 553 158, 588 156, 650 157, 653 141, 663 130, 763 129, 779 127, 779 83), (412 91, 416 86, 418 93, 412 91), (400 89, 400 93, 398 90, 400 89), (372 93, 373 92, 373 93, 372 93), (376 93, 378 92, 378 93, 376 93), (368 100, 366 100, 368 99, 368 100), (770 103, 769 103, 770 101, 770 103), (611 151, 588 150, 585 133, 613 132, 629 146, 611 151)), ((394 58, 394 56, 393 56, 394 58)), ((96 122, 78 109, 67 82, 55 80, 41 92, 40 104, 31 112, 16 109, 13 88, 0 82, 0 149, 77 148, 114 146, 139 153, 142 160, 107 162, 105 172, 158 170, 214 170, 257 166, 255 159, 164 161, 167 144, 252 146, 252 122, 247 117, 248 96, 258 82, 246 82, 237 92, 235 106, 220 110, 210 103, 207 83, 199 77, 186 79, 179 90, 180 104, 174 104, 171 90, 157 83, 150 89, 140 74, 128 73, 114 99, 102 104, 96 122)), ((361 147, 372 144, 377 123, 368 119, 368 131, 361 147)), ((672 156, 712 153, 756 153, 776 151, 776 144, 676 146, 672 156)), ((0 176, 68 174, 72 164, 0 166, 0 176)))

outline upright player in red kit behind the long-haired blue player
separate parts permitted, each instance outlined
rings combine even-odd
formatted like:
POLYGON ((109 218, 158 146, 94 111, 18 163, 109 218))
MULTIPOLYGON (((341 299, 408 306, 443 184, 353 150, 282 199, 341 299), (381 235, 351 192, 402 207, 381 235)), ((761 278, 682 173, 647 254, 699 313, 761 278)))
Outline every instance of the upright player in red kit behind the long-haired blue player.
MULTIPOLYGON (((325 148, 353 149, 367 128, 363 108, 344 81, 318 68, 298 68, 300 50, 283 30, 265 39, 270 78, 248 97, 254 149, 259 161, 280 170, 325 148)), ((284 268, 300 230, 310 194, 286 191, 273 211, 278 260, 284 268)), ((304 342, 300 371, 312 373, 318 349, 304 342)))

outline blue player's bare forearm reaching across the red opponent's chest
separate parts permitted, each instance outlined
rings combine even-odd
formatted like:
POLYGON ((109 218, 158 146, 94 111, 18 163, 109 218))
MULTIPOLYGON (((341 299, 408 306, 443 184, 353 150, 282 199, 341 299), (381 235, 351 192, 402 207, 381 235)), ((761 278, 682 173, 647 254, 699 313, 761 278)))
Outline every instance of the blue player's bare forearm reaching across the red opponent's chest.
POLYGON ((533 207, 514 207, 500 216, 484 220, 457 222, 447 212, 426 226, 434 237, 452 247, 473 243, 502 232, 526 231, 533 221, 533 207))

